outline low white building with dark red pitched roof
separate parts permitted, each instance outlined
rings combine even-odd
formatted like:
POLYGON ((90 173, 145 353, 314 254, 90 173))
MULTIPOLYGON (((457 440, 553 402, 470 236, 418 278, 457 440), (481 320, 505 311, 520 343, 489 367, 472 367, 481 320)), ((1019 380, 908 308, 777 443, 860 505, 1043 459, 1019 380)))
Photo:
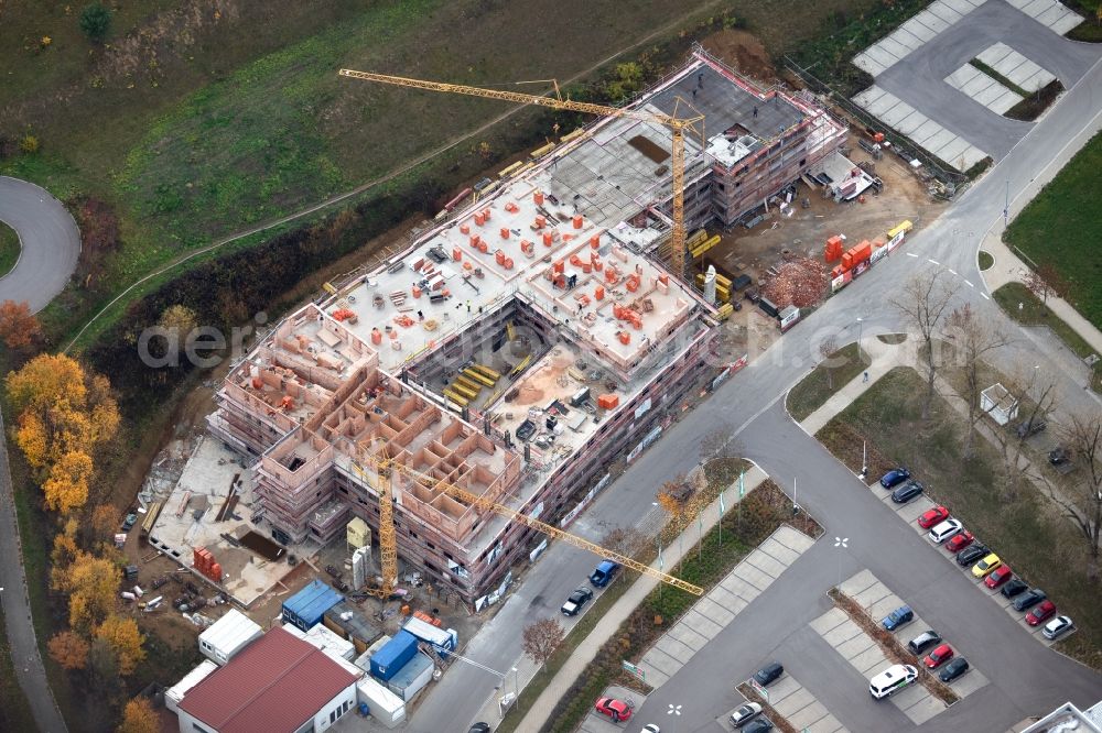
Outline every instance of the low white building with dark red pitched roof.
POLYGON ((321 732, 356 707, 357 677, 282 628, 252 642, 180 701, 180 733, 321 732))

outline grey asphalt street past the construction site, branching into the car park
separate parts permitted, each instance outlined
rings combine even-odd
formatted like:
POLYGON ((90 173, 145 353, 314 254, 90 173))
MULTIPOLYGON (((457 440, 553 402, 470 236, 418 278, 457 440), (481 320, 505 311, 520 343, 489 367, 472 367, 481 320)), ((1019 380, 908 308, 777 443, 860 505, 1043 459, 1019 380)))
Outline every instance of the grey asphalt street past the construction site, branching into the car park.
MULTIPOLYGON (((825 335, 836 336, 839 342, 844 343, 856 336, 858 317, 864 319, 865 336, 900 330, 898 317, 885 307, 885 302, 916 266, 938 266, 954 272, 962 282, 972 284, 971 287, 962 285, 962 299, 1000 318, 1007 329, 1017 329, 982 296, 977 243, 1002 216, 1006 182, 1011 185, 1014 208, 1014 199, 1035 188, 1031 183, 1040 172, 1049 164, 1058 167, 1074 152, 1070 141, 1099 129, 1100 113, 1102 73, 1095 64, 998 165, 955 200, 938 221, 908 240, 897 253, 877 264, 857 283, 828 300, 701 407, 674 424, 602 493, 575 523, 574 530, 597 539, 609 526, 633 526, 642 521, 652 511, 655 488, 698 462, 699 439, 717 426, 731 425, 747 455, 758 459, 782 485, 790 490, 792 478, 800 477, 798 500, 811 507, 828 533, 845 533, 855 538, 851 553, 843 558, 844 577, 861 568, 872 569, 897 593, 914 600, 923 617, 943 623, 954 638, 968 639, 970 655, 975 656, 976 665, 992 683, 934 718, 928 724, 929 730, 939 730, 958 720, 968 721, 958 730, 1005 730, 1006 726, 993 729, 990 721, 1020 720, 1025 716, 1019 714, 1023 711, 1047 712, 1068 699, 1077 703, 1096 701, 1102 692, 1102 678, 1042 648, 1015 628, 1007 614, 974 588, 964 588, 964 579, 942 558, 921 546, 915 533, 898 525, 899 519, 890 516, 866 490, 853 489, 853 478, 791 424, 777 403, 819 361, 818 343, 825 335), (917 256, 908 256, 908 253, 917 256), (900 578, 898 583, 896 578, 900 578), (962 610, 950 611, 955 608, 962 610), (976 653, 971 652, 973 648, 976 653)), ((1034 346, 1028 333, 1020 329, 1017 332, 1023 338, 1008 347, 1001 358, 1045 365, 1047 372, 1059 379, 1065 404, 1094 398, 1082 390, 1076 378, 1061 370, 1059 360, 1049 360, 1034 346)), ((521 656, 521 628, 531 619, 554 615, 562 599, 586 577, 593 562, 594 558, 584 551, 553 544, 528 573, 526 582, 471 641, 464 654, 495 669, 508 670, 521 656)), ((825 544, 809 550, 739 615, 732 627, 737 631, 731 631, 724 644, 713 645, 716 648, 713 656, 701 653, 693 664, 652 694, 640 709, 644 714, 638 720, 658 720, 655 711, 665 712, 670 702, 691 700, 694 704, 687 709, 680 732, 712 725, 711 721, 719 715, 716 711, 722 712, 723 704, 734 704, 730 690, 734 679, 745 677, 745 672, 752 671, 750 668, 768 656, 774 646, 787 643, 795 650, 800 648, 802 641, 810 638, 801 630, 825 610, 823 593, 836 580, 836 562, 838 558, 828 553, 825 544), (706 702, 698 711, 696 701, 711 699, 702 694, 706 690, 725 696, 722 697, 724 702, 706 702)), ((778 649, 785 650, 784 647, 778 649)), ((828 708, 851 730, 889 730, 884 727, 887 722, 892 723, 890 730, 909 726, 901 713, 899 720, 874 720, 873 712, 862 707, 868 699, 866 683, 854 679, 855 672, 841 657, 811 656, 821 658, 818 663, 809 663, 819 665, 819 671, 813 666, 810 674, 799 676, 800 681, 812 693, 822 694, 828 708)), ((463 730, 493 692, 496 682, 495 677, 485 672, 452 667, 420 705, 410 730, 418 733, 463 730)), ((883 712, 875 711, 877 714, 883 712)), ((898 711, 893 707, 887 714, 894 713, 898 711)))

